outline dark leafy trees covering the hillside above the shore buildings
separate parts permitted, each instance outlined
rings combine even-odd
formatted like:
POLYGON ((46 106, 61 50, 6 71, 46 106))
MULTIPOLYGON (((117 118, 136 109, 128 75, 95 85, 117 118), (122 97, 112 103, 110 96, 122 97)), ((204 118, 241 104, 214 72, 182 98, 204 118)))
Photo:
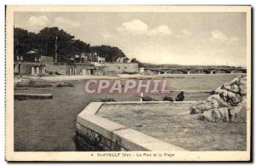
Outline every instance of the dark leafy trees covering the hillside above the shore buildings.
POLYGON ((14 30, 14 55, 22 55, 24 60, 32 60, 32 54, 51 56, 59 62, 67 62, 76 54, 88 54, 96 52, 106 61, 113 62, 119 57, 126 57, 121 49, 109 45, 90 46, 75 39, 67 31, 58 27, 45 27, 38 33, 15 27, 14 30))

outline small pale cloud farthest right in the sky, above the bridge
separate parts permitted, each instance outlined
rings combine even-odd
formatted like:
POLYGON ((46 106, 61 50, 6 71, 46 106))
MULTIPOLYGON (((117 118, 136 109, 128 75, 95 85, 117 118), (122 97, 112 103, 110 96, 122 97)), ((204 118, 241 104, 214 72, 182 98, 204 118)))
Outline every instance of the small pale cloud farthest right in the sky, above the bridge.
POLYGON ((239 38, 238 37, 229 37, 222 31, 212 31, 211 37, 209 37, 210 42, 212 43, 226 43, 226 44, 233 44, 236 43, 239 38))

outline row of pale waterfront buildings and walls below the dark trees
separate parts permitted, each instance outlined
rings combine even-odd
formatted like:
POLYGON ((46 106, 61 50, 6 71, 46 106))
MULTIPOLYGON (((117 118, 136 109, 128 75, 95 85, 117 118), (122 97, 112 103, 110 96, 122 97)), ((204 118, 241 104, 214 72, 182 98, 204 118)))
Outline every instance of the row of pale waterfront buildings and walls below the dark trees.
POLYGON ((30 51, 26 56, 30 60, 24 60, 23 56, 16 56, 15 74, 44 75, 115 75, 120 73, 138 73, 137 63, 127 63, 125 57, 119 58, 119 62, 106 62, 105 57, 96 53, 76 54, 69 63, 54 63, 53 57, 38 55, 30 51), (32 59, 33 58, 33 59, 32 59))

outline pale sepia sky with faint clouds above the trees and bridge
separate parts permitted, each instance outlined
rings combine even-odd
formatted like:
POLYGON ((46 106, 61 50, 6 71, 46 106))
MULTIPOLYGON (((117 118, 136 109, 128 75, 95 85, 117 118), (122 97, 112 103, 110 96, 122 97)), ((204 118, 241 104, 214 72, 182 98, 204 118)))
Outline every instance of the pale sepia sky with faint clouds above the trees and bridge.
POLYGON ((246 13, 19 12, 15 27, 58 26, 153 64, 246 66, 246 13))

